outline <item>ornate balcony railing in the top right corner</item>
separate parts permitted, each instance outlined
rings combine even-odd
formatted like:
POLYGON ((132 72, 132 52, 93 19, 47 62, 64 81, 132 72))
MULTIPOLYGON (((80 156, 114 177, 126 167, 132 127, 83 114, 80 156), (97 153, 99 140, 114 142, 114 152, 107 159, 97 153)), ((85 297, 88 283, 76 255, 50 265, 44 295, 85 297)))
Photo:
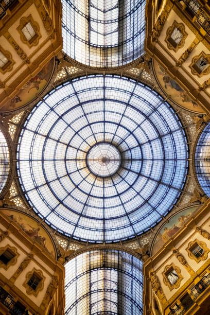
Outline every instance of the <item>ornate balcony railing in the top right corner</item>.
POLYGON ((188 9, 197 17, 200 26, 210 35, 210 20, 197 0, 182 0, 188 9))

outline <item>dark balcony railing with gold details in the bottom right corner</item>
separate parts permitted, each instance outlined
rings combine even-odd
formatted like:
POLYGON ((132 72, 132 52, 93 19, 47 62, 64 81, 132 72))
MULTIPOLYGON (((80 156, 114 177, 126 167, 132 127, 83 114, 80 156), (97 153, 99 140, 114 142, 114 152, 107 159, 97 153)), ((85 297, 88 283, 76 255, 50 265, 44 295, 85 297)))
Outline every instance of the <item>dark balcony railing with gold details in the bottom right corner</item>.
POLYGON ((198 296, 203 293, 208 286, 210 286, 210 274, 203 276, 202 279, 190 289, 190 295, 186 295, 185 299, 182 299, 182 303, 179 305, 176 304, 176 307, 174 308, 170 308, 170 313, 168 315, 185 314, 188 309, 194 305, 198 296))

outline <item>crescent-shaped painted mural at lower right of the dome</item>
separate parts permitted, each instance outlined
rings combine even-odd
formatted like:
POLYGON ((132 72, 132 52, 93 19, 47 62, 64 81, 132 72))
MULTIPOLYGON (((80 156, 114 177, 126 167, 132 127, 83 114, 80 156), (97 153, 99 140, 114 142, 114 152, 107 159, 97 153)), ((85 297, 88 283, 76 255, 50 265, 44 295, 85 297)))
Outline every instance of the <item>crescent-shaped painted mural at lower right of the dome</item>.
POLYGON ((153 243, 152 255, 158 252, 163 247, 163 245, 182 228, 185 222, 187 222, 191 216, 193 216, 198 208, 199 205, 189 207, 174 215, 169 219, 168 223, 165 223, 162 226, 153 243))

